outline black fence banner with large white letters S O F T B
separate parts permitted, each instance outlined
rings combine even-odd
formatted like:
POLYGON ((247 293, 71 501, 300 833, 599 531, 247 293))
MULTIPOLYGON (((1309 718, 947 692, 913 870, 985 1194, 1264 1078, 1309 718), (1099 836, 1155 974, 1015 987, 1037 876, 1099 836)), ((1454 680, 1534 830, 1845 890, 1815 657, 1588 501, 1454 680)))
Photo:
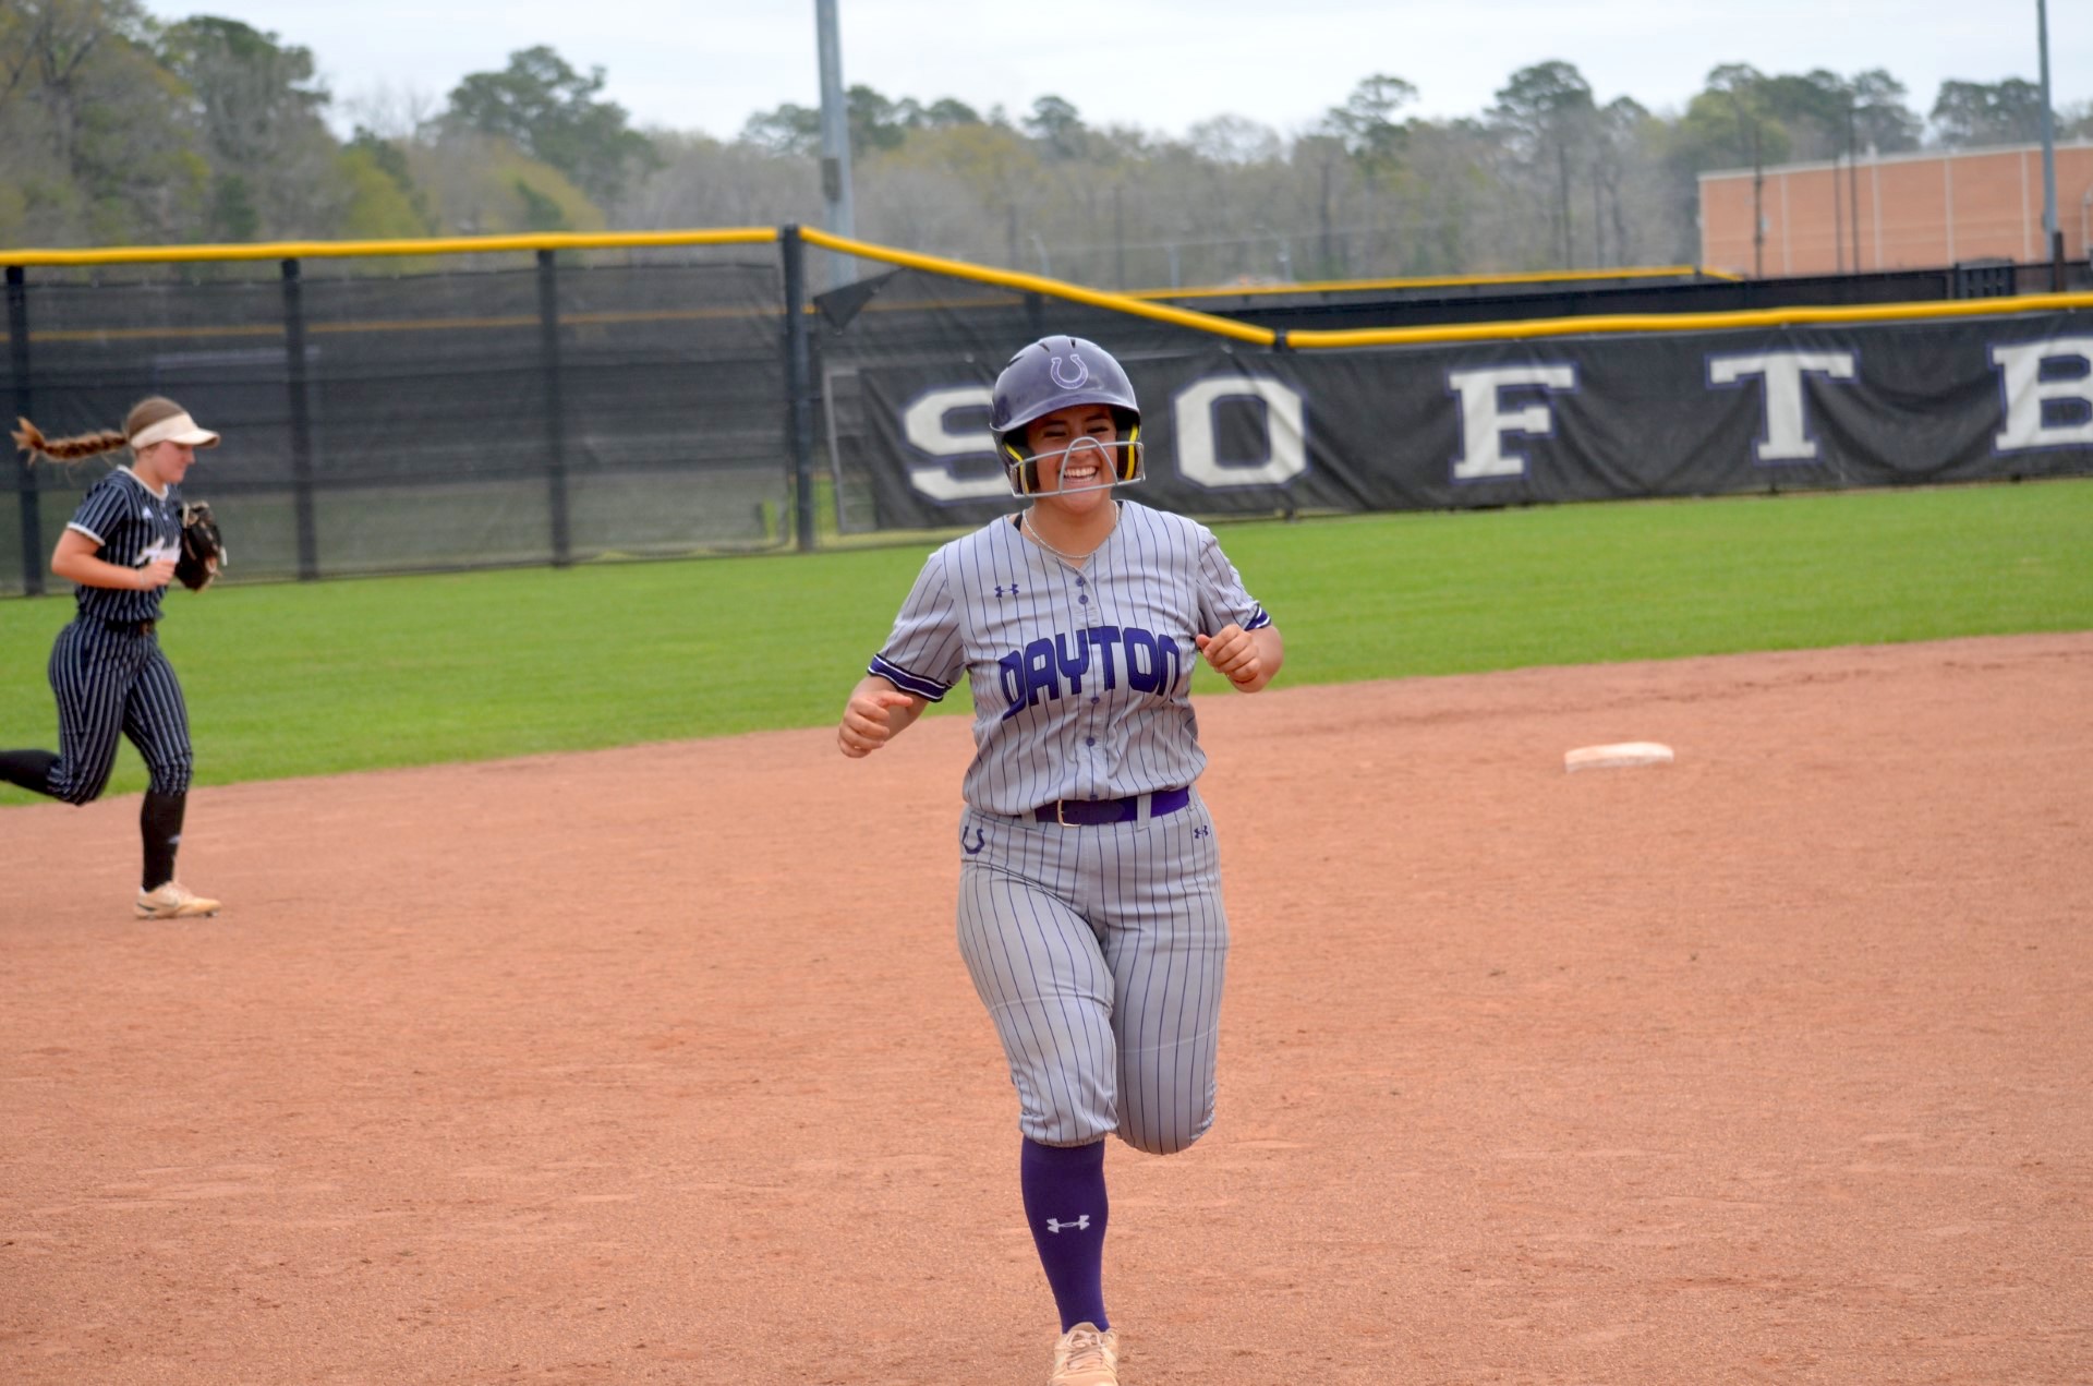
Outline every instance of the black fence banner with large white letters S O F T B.
MULTIPOLYGON (((1145 498, 1189 513, 2093 469, 2093 314, 2080 312, 1314 354, 1128 335, 1147 337, 1113 345, 1145 404, 1145 498)), ((856 377, 860 429, 848 442, 875 479, 883 526, 1009 507, 988 438, 986 350, 894 364, 839 356, 831 348, 831 379, 856 377)))

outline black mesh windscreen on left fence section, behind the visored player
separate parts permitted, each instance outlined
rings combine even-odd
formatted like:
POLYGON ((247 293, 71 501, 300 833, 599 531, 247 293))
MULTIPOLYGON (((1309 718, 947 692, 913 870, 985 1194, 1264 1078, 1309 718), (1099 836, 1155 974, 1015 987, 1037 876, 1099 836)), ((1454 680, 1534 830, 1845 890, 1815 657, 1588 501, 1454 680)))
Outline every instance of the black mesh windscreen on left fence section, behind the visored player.
MULTIPOLYGON (((295 283, 31 270, 27 412, 84 433, 165 394, 224 433, 182 490, 218 513, 228 580, 785 542, 777 253, 521 260, 295 283)), ((19 360, 0 398, 21 398, 19 360)), ((25 473, 44 555, 123 456, 25 473)), ((25 584, 21 486, 0 488, 0 593, 25 584)))

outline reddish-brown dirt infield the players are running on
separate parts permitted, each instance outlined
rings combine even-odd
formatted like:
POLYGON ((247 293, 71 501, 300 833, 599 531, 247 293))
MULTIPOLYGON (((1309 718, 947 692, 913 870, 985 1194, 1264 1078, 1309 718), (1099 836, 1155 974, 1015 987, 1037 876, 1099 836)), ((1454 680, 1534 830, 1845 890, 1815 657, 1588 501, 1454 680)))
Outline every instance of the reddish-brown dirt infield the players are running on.
MULTIPOLYGON (((2093 634, 1203 699, 1222 1108, 1109 1156, 1130 1386, 2093 1380, 2089 695, 2093 634)), ((136 796, 0 812, 0 1380, 1044 1380, 965 756, 205 789, 180 925, 136 796)))

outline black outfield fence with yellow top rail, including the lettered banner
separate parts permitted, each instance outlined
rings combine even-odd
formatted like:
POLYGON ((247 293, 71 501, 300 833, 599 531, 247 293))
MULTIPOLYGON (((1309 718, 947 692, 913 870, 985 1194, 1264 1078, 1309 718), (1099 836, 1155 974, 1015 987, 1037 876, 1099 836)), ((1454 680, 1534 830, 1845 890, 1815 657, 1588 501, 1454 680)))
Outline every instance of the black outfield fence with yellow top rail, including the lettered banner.
MULTIPOLYGON (((1160 301, 800 228, 0 262, 13 415, 63 435, 167 394, 226 435, 184 490, 224 521, 230 580, 975 523, 1013 505, 988 383, 1044 333, 1126 362, 1145 498, 1193 515, 2093 471, 2093 293, 1978 297, 2020 287, 2001 272, 1160 301), (896 268, 808 295, 808 245, 896 268), (433 258, 456 251, 477 268, 433 258), (339 272, 352 255, 417 272, 339 272), (111 264, 153 268, 117 281, 111 264)), ((57 532, 107 461, 8 469, 0 593, 50 584, 57 532)))

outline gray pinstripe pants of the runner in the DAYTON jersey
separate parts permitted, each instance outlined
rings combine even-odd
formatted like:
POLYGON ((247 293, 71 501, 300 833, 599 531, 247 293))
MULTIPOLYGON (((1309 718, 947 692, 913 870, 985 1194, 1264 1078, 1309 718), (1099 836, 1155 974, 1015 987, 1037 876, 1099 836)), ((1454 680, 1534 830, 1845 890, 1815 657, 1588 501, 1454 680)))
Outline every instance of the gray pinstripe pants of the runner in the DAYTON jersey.
POLYGON ((1149 1154, 1214 1122, 1229 919, 1214 821, 1059 827, 969 808, 959 951, 1042 1145, 1109 1133, 1149 1154))

